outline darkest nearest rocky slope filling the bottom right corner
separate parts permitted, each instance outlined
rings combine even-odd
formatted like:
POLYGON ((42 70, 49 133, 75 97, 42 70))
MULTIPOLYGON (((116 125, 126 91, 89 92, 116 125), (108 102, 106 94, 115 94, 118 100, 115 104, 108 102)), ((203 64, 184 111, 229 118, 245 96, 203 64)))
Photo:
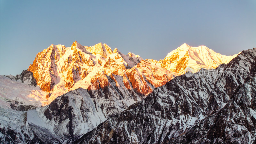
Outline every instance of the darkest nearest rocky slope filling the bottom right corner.
MULTIPOLYGON (((255 72, 255 71, 254 71, 255 72)), ((256 76, 248 76, 219 111, 197 122, 169 143, 255 143, 256 76)))

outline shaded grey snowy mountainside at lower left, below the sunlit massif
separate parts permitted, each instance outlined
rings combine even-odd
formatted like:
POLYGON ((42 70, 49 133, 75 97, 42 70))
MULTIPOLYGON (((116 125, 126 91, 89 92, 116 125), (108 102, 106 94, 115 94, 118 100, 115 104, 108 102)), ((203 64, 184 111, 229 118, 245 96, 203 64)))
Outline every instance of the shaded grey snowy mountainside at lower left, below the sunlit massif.
POLYGON ((64 143, 91 131, 140 100, 136 93, 116 86, 118 83, 110 76, 106 77, 109 85, 103 89, 78 88, 57 97, 49 105, 34 110, 0 108, 0 141, 44 142, 47 135, 49 140, 64 143))

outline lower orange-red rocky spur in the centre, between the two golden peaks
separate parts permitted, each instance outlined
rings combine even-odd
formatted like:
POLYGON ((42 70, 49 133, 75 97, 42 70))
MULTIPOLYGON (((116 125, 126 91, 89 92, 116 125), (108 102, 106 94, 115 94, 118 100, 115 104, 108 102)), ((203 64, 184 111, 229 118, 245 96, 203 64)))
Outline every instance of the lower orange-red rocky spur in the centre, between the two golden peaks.
MULTIPOLYGON (((143 97, 143 95, 151 93, 156 87, 164 85, 175 76, 178 76, 174 72, 144 60, 141 60, 133 68, 127 69, 126 67, 130 67, 129 64, 118 63, 118 61, 124 61, 119 56, 116 55, 115 59, 109 59, 105 63, 103 71, 92 77, 92 85, 89 89, 99 89, 99 85, 101 88, 106 87, 108 85, 106 76, 108 75, 115 81, 117 81, 116 76, 119 76, 121 78, 119 78, 121 80, 119 83, 123 83, 122 85, 125 88, 135 91, 140 97, 143 97)), ((118 84, 117 86, 120 85, 118 84)))

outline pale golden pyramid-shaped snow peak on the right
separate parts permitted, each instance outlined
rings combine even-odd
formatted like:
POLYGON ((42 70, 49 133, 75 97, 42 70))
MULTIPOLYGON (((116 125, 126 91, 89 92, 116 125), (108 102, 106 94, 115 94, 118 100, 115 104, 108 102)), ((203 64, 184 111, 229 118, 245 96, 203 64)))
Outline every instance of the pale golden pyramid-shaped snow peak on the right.
POLYGON ((164 60, 148 60, 157 66, 176 72, 185 74, 186 70, 197 72, 201 68, 211 69, 217 68, 220 64, 227 64, 235 58, 233 56, 225 56, 214 52, 206 46, 192 47, 188 44, 182 44, 177 49, 168 53, 164 60), (189 69, 186 69, 186 68, 189 69))

